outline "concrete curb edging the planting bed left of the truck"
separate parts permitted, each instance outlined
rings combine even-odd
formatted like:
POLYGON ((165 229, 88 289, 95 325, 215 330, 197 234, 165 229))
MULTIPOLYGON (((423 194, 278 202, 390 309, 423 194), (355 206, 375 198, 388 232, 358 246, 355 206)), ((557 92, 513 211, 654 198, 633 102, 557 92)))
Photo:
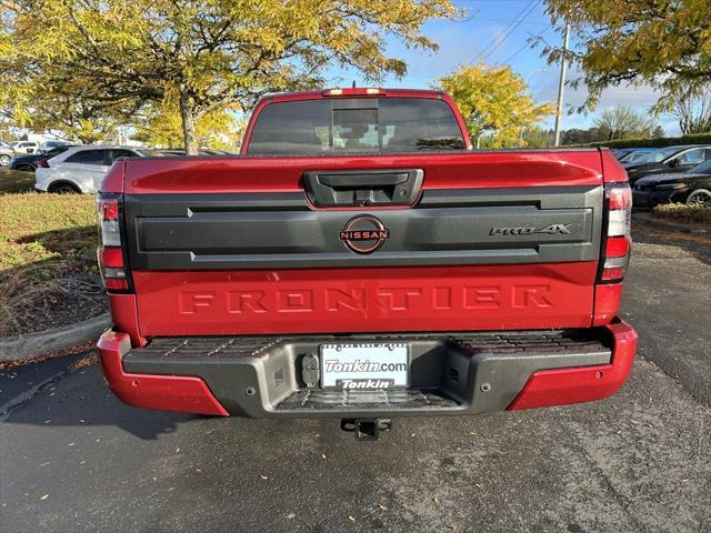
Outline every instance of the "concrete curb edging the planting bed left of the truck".
POLYGON ((57 350, 77 346, 99 338, 108 328, 111 328, 111 315, 104 313, 100 316, 84 320, 76 324, 54 328, 19 336, 6 336, 0 339, 0 361, 18 361, 42 355, 57 350))

